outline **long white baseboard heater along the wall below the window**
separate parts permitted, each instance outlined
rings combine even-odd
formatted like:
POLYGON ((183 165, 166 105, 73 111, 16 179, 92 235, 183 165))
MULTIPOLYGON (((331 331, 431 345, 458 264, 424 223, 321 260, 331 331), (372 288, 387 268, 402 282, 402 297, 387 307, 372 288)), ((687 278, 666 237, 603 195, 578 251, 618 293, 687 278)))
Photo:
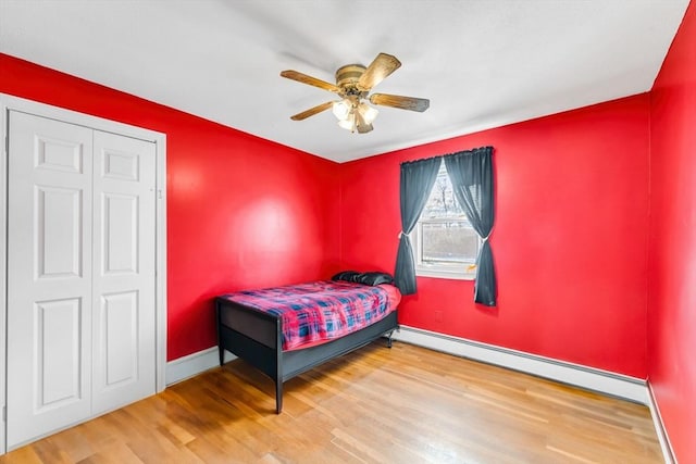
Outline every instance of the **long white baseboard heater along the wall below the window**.
POLYGON ((605 394, 649 404, 645 380, 580 364, 567 363, 522 351, 450 337, 414 327, 401 326, 394 339, 457 356, 495 364, 513 371, 537 375, 605 394))

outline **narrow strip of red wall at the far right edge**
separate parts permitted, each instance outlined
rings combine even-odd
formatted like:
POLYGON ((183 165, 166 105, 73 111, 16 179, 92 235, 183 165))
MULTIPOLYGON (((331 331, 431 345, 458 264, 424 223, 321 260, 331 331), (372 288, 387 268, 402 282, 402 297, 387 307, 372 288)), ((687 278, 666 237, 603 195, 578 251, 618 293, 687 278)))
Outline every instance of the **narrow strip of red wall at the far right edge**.
POLYGON ((696 4, 651 91, 648 375, 681 463, 696 463, 696 4))

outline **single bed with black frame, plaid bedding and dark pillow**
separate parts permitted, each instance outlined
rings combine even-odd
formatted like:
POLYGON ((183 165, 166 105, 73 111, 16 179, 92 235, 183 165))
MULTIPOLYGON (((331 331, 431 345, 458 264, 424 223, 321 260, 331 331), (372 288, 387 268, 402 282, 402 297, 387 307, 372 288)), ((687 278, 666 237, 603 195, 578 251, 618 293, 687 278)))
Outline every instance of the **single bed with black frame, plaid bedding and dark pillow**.
POLYGON ((279 414, 290 378, 381 337, 391 348, 401 294, 374 274, 216 297, 220 365, 227 350, 271 377, 279 414))

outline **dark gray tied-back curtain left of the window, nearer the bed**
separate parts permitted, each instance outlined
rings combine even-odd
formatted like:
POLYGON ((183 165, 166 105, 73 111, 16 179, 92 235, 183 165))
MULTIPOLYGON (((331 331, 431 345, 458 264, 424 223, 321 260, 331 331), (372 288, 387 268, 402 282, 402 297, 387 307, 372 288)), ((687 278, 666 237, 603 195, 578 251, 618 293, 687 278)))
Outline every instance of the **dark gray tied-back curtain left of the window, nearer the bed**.
POLYGON ((396 255, 394 283, 402 294, 412 294, 417 290, 415 263, 413 262, 413 248, 409 234, 421 217, 442 162, 442 158, 428 158, 401 163, 401 238, 396 255))

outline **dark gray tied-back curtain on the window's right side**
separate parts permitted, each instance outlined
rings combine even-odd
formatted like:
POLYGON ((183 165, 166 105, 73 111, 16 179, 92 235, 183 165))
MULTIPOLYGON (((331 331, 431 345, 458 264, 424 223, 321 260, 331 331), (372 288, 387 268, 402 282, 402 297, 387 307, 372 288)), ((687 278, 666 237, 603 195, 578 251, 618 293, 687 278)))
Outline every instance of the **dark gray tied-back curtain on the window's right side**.
POLYGON ((474 301, 496 305, 496 272, 488 236, 493 229, 493 147, 461 151, 445 156, 445 167, 452 183, 457 202, 476 234, 483 239, 476 259, 474 301))

